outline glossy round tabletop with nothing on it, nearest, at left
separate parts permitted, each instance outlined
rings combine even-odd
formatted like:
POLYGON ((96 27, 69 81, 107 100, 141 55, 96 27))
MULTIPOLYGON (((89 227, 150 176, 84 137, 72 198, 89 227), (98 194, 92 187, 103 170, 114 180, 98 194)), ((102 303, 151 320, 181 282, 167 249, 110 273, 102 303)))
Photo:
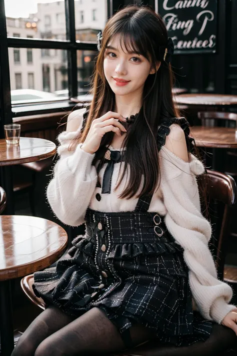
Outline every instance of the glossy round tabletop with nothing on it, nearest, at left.
POLYGON ((0 281, 48 267, 63 253, 65 230, 35 216, 0 215, 0 281))

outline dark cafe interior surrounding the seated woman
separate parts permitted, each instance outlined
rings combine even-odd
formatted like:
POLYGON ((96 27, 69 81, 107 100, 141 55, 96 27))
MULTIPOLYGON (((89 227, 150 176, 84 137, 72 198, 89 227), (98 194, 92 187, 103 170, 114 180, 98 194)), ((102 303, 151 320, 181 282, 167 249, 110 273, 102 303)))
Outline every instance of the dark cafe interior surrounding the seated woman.
MULTIPOLYGON (((237 0, 0 0, 2 356, 10 356, 45 309, 33 293, 33 273, 63 258, 72 239, 84 233, 84 224, 64 225, 53 214, 45 191, 68 114, 92 100, 97 34, 118 9, 133 3, 159 13, 173 40, 173 99, 207 167, 209 248, 237 305, 237 0)), ((179 348, 148 341, 117 355, 237 354, 234 332, 223 326, 216 332, 208 351, 203 344, 179 348)))

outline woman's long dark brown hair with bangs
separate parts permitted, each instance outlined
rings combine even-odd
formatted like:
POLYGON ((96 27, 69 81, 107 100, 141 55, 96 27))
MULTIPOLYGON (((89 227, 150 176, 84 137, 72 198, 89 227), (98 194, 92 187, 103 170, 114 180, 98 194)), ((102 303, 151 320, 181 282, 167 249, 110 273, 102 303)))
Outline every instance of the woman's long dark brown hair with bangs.
MULTIPOLYGON (((85 127, 73 144, 84 142, 94 119, 108 111, 114 111, 115 96, 104 76, 103 60, 105 47, 116 34, 120 35, 120 45, 123 42, 128 53, 138 51, 154 69, 154 74, 149 74, 144 83, 142 106, 123 142, 126 147, 126 150, 122 152, 124 169, 116 189, 129 164, 129 180, 119 195, 119 198, 129 199, 138 197, 137 191, 142 176, 143 186, 139 191, 139 196, 152 195, 157 189, 160 167, 156 133, 161 119, 179 117, 179 111, 174 106, 172 98, 174 75, 171 65, 163 61, 163 52, 160 51, 168 42, 162 18, 149 6, 126 6, 107 21, 103 30, 101 48, 96 56, 92 74, 90 93, 93 99, 85 127), (155 70, 157 61, 161 62, 158 71, 155 70)), ((100 148, 110 145, 112 138, 113 132, 106 133, 101 140, 100 148)))

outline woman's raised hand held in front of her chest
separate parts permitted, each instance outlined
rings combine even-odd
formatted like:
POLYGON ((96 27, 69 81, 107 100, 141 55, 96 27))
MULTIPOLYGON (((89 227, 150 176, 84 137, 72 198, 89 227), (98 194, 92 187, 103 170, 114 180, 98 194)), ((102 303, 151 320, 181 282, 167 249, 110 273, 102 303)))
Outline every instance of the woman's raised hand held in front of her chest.
POLYGON ((106 132, 113 131, 116 135, 121 136, 121 131, 126 132, 126 129, 118 120, 126 122, 123 116, 112 111, 108 111, 100 118, 94 119, 81 149, 93 154, 98 150, 101 139, 106 132))

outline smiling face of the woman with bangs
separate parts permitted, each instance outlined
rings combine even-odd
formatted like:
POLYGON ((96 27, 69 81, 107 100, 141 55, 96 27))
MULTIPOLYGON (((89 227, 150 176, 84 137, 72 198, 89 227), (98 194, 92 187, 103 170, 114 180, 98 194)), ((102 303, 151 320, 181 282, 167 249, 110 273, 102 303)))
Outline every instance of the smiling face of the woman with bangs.
MULTIPOLYGON (((156 70, 159 65, 160 62, 157 63, 156 70)), ((111 90, 117 95, 127 95, 140 90, 148 75, 154 73, 145 57, 137 53, 128 53, 124 44, 120 45, 119 34, 113 36, 106 46, 103 70, 111 90), (114 78, 128 82, 121 84, 114 78)))

